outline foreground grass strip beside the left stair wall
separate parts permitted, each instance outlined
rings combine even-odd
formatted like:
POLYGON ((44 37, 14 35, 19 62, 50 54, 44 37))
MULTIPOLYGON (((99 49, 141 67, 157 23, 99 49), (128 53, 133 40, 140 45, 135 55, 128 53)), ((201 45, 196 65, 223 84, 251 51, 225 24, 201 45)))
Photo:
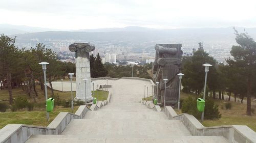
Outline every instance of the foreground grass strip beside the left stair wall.
MULTIPOLYGON (((74 112, 78 106, 74 107, 74 112)), ((71 108, 55 107, 49 113, 50 121, 46 120, 46 111, 19 111, 19 112, 0 112, 0 128, 7 124, 27 124, 36 126, 48 126, 59 112, 71 112, 71 108)))

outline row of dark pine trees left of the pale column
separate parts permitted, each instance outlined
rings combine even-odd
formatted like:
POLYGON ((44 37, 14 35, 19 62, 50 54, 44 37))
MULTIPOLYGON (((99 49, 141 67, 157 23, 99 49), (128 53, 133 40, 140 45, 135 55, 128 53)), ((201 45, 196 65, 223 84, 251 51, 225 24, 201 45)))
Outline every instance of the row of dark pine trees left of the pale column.
MULTIPOLYGON (((15 39, 5 35, 0 37, 0 81, 1 90, 7 88, 9 92, 9 104, 13 103, 12 89, 21 85, 29 98, 34 102, 38 97, 36 84, 44 91, 44 75, 40 62, 48 62, 47 80, 50 84, 51 95, 54 95, 52 81, 65 78, 69 72, 75 71, 75 64, 63 63, 57 59, 57 54, 47 49, 44 44, 37 43, 30 49, 19 49, 15 46, 15 39)), ((45 92, 45 91, 44 91, 45 92)))

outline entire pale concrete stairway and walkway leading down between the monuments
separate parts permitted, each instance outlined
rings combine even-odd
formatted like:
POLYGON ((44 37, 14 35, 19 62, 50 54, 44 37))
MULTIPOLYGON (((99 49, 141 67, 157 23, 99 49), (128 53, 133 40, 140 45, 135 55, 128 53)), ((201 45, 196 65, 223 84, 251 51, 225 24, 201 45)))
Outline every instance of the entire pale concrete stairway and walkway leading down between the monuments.
MULTIPOLYGON (((33 135, 30 142, 227 142, 220 136, 192 136, 180 120, 139 103, 144 84, 135 79, 109 80, 111 101, 83 119, 72 120, 61 135, 33 135)), ((96 80, 96 83, 105 80, 96 80)))

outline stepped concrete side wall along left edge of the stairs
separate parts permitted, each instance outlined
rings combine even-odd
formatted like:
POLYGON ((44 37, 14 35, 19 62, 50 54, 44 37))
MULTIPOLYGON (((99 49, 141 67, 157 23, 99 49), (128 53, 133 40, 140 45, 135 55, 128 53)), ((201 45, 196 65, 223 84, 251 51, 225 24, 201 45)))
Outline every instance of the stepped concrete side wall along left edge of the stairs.
POLYGON ((76 113, 60 112, 47 127, 8 124, 0 130, 0 142, 23 143, 33 134, 61 134, 71 120, 82 119, 88 110, 90 109, 83 105, 76 113))

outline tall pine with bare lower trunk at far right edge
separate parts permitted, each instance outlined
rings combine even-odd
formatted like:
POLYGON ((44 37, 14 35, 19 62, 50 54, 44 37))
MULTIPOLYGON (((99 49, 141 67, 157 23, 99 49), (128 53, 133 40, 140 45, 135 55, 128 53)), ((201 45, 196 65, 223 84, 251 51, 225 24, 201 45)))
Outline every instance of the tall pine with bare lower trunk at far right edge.
MULTIPOLYGON (((236 42, 238 45, 232 46, 230 51, 231 55, 234 57, 233 60, 229 59, 229 64, 232 64, 238 72, 243 75, 242 77, 247 80, 247 115, 251 115, 251 94, 252 94, 252 84, 253 76, 256 72, 256 42, 246 33, 238 33, 234 29, 236 34, 236 42)), ((255 82, 255 81, 254 81, 255 82)))

